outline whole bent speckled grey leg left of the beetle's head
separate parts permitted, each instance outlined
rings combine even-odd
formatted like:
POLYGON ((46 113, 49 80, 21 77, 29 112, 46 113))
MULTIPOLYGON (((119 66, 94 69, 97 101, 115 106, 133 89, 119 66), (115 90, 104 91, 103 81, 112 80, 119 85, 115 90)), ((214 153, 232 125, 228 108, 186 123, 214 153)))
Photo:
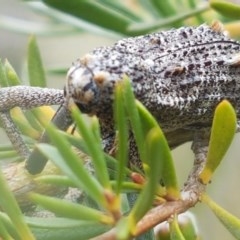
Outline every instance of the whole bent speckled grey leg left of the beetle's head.
POLYGON ((30 151, 12 121, 9 111, 14 107, 30 109, 44 105, 59 105, 63 101, 62 90, 30 86, 0 88, 1 121, 14 148, 22 157, 28 158, 30 151))

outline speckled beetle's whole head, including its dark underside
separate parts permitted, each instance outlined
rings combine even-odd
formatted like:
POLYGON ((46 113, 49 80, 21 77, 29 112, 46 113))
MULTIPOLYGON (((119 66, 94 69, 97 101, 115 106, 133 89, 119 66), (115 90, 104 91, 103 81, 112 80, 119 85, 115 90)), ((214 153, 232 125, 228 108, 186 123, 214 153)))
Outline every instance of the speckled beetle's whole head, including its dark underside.
POLYGON ((104 65, 102 58, 88 54, 68 71, 65 98, 71 98, 84 113, 98 115, 111 108, 118 77, 104 69, 104 65))

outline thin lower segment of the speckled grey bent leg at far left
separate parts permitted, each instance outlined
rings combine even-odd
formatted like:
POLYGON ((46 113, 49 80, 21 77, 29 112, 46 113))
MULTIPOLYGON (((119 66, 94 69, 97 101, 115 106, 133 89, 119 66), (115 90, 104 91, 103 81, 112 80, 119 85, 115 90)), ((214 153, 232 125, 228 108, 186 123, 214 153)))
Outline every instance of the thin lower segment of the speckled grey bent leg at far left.
POLYGON ((21 134, 12 121, 9 111, 0 112, 0 121, 4 130, 6 131, 14 149, 26 159, 30 155, 30 150, 24 143, 21 134))

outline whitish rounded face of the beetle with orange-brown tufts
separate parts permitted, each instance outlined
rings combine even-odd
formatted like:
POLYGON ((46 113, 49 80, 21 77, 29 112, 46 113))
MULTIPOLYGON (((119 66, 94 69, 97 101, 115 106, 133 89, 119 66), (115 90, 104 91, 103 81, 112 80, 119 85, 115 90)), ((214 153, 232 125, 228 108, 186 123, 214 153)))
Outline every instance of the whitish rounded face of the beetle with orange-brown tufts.
POLYGON ((94 113, 93 108, 109 88, 110 74, 96 66, 97 62, 94 56, 86 55, 77 60, 67 74, 65 97, 71 98, 86 113, 94 113))

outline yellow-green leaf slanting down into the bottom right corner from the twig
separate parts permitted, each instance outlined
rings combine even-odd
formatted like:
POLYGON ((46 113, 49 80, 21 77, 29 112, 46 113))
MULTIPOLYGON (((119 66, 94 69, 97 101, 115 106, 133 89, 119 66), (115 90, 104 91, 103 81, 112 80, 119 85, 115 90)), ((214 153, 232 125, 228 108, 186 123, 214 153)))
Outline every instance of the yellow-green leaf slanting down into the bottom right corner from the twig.
POLYGON ((214 212, 216 217, 227 228, 227 230, 236 238, 240 239, 240 219, 220 207, 206 194, 201 197, 202 202, 206 203, 214 212))

